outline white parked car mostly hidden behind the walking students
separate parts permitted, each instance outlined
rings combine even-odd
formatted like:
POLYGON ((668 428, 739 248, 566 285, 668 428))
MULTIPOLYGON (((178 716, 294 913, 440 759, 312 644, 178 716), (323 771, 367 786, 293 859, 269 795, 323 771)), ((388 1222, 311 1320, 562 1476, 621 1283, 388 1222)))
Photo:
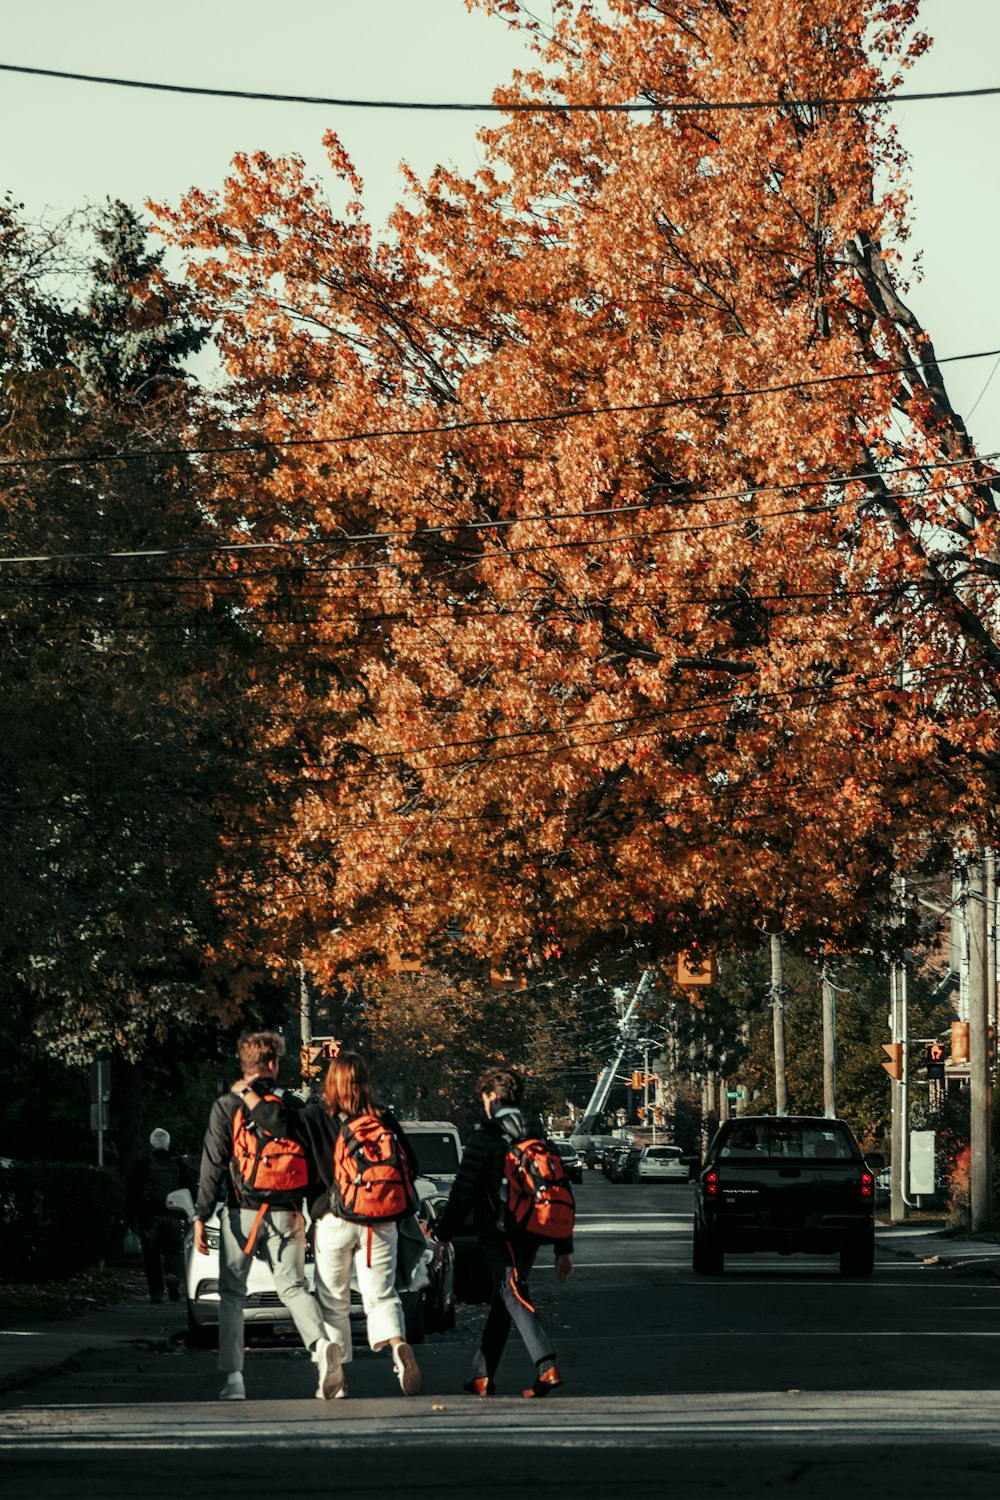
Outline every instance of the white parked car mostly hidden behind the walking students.
MULTIPOLYGON (((444 1210, 445 1198, 436 1185, 426 1178, 414 1182, 417 1196, 417 1212, 423 1224, 430 1230, 433 1221, 444 1210)), ((169 1208, 186 1214, 187 1232, 184 1234, 184 1281, 187 1292, 187 1342, 198 1348, 214 1348, 219 1342, 219 1210, 205 1222, 208 1239, 208 1254, 199 1256, 195 1250, 195 1204, 187 1188, 178 1188, 168 1194, 169 1208)), ((454 1328, 454 1254, 448 1250, 444 1262, 436 1262, 432 1256, 424 1260, 426 1284, 415 1290, 400 1292, 403 1316, 406 1318, 406 1340, 411 1344, 421 1344, 426 1332, 444 1332, 454 1328)), ((423 1276, 420 1278, 423 1280, 423 1276)), ((306 1281, 312 1290, 315 1286, 315 1270, 312 1252, 306 1251, 306 1281)), ((351 1317, 361 1318, 361 1294, 357 1278, 351 1276, 351 1317)), ((246 1302, 243 1318, 247 1330, 253 1326, 291 1330, 294 1323, 285 1304, 274 1290, 271 1268, 264 1258, 262 1246, 253 1252, 250 1274, 246 1286, 246 1302)))

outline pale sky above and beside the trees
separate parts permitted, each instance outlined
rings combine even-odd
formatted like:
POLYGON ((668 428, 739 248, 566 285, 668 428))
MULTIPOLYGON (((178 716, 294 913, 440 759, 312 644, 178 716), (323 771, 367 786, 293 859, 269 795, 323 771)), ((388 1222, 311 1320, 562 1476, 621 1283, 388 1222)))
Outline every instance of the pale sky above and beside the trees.
MULTIPOLYGON (((538 14, 547 0, 538 0, 538 14)), ((1000 84, 1000 0, 924 0, 931 52, 909 90, 1000 84)), ((0 0, 0 62, 268 93, 373 99, 489 100, 523 62, 502 22, 465 0, 0 0)), ((27 214, 60 216, 87 202, 177 200, 217 186, 237 150, 298 152, 324 171, 322 134, 340 135, 382 220, 406 159, 471 171, 489 116, 331 111, 139 93, 0 74, 0 192, 27 214)), ((900 105, 912 153, 921 282, 910 302, 940 356, 1000 350, 996 141, 1000 94, 900 105)), ((1000 369, 976 360, 946 369, 952 399, 981 452, 1000 450, 1000 369)))

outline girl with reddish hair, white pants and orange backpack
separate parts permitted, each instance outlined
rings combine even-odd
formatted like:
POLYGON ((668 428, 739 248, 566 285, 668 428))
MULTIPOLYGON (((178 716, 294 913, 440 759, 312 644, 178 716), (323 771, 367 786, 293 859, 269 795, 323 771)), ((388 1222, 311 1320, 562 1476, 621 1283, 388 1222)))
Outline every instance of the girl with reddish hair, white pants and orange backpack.
MULTIPOLYGON (((259 1110, 256 1114, 267 1119, 259 1110)), ((355 1052, 331 1060, 322 1101, 309 1102, 295 1125, 303 1128, 319 1179, 319 1191, 310 1202, 316 1298, 340 1364, 348 1365, 352 1358, 354 1268, 369 1346, 376 1353, 388 1348, 400 1390, 412 1396, 420 1390, 421 1374, 406 1342, 403 1305, 396 1292, 397 1221, 412 1210, 417 1176, 412 1148, 390 1110, 376 1106, 367 1064, 355 1052)), ((337 1395, 345 1394, 342 1376, 337 1395)))

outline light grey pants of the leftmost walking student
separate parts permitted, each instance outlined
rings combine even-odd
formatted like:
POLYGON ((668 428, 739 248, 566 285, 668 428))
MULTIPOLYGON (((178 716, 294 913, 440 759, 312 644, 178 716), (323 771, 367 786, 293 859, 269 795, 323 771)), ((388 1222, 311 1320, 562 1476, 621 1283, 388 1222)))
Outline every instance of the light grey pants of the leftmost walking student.
MULTIPOLYGON (((252 1256, 243 1254, 256 1209, 225 1209, 219 1246, 219 1370, 243 1370, 243 1304, 252 1256)), ((274 1290, 306 1348, 325 1338, 322 1316, 306 1286, 306 1221, 298 1209, 268 1209, 256 1232, 274 1274, 274 1290)))

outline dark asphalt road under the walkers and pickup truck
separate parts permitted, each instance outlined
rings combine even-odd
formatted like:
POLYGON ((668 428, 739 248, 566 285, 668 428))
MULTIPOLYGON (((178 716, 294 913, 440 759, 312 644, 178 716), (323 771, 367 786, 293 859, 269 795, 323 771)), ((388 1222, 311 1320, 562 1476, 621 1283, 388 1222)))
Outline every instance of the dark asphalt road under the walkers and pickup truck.
POLYGON ((315 1401, 306 1354, 262 1342, 249 1400, 223 1406, 214 1356, 178 1329, 166 1348, 81 1356, 7 1395, 4 1492, 994 1494, 1000 1286, 888 1257, 871 1281, 802 1257, 696 1276, 690 1192, 588 1174, 573 1281, 559 1287, 547 1256, 534 1276, 565 1377, 546 1401, 519 1395, 531 1371, 516 1340, 496 1400, 462 1392, 478 1308, 420 1347, 411 1400, 384 1356, 357 1350, 348 1401, 315 1401))

